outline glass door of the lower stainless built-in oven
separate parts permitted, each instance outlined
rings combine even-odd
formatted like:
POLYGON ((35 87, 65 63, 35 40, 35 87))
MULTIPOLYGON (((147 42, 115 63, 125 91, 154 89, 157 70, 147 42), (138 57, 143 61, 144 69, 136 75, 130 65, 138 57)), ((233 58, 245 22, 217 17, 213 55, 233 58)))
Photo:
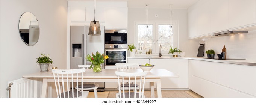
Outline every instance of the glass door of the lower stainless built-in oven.
POLYGON ((106 49, 105 54, 109 57, 106 59, 106 66, 115 66, 116 63, 126 63, 127 49, 106 49))

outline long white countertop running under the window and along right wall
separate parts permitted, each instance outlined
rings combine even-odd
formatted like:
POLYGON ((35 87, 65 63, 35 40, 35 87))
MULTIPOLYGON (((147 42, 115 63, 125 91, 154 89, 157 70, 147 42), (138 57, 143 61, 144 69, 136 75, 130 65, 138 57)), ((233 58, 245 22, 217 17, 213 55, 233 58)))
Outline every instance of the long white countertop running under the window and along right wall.
POLYGON ((127 57, 127 59, 190 59, 190 60, 203 60, 209 62, 220 62, 220 63, 231 63, 238 65, 248 65, 256 66, 256 60, 216 60, 216 59, 206 59, 204 57, 127 57))

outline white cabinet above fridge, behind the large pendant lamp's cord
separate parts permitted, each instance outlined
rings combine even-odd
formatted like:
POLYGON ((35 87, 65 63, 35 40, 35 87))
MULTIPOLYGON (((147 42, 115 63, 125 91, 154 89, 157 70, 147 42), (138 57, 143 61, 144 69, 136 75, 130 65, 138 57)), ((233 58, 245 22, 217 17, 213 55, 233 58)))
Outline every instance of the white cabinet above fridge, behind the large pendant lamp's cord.
MULTIPOLYGON (((86 7, 86 21, 94 20, 94 7, 86 7)), ((105 21, 105 7, 95 8, 95 20, 105 21)))

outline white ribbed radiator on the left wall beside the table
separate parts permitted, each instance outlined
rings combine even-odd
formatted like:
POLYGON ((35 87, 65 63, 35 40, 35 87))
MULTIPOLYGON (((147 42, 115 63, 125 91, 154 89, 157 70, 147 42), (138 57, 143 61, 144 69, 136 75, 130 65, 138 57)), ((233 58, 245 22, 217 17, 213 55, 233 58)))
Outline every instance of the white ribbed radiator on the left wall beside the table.
MULTIPOLYGON (((42 81, 42 78, 21 78, 9 81, 8 95, 11 98, 40 98, 42 81)), ((47 90, 47 97, 52 97, 52 83, 48 83, 47 90)))

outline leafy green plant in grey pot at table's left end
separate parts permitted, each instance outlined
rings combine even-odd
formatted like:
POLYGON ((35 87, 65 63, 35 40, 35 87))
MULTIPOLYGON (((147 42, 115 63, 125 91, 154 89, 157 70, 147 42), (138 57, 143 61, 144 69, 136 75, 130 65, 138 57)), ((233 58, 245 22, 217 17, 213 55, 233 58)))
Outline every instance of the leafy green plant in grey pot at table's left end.
POLYGON ((41 54, 41 57, 36 58, 36 63, 39 63, 41 72, 48 72, 49 64, 53 63, 52 59, 50 59, 49 54, 45 56, 45 54, 41 54))

